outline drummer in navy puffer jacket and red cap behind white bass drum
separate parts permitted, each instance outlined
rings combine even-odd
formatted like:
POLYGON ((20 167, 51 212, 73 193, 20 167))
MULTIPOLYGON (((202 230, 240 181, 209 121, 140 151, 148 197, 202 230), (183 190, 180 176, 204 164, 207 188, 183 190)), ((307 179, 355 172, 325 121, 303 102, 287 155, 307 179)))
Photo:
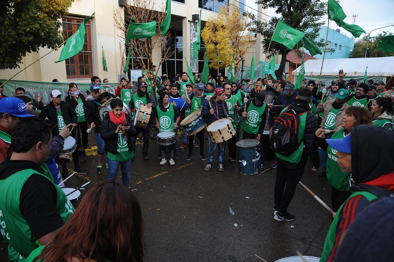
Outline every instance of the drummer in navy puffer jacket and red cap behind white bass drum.
MULTIPOLYGON (((203 104, 203 110, 201 111, 201 117, 206 119, 207 126, 222 118, 229 117, 229 119, 231 119, 231 116, 227 115, 227 105, 224 102, 224 100, 227 98, 227 95, 224 93, 224 89, 219 87, 216 88, 212 98, 209 101, 205 100, 203 104)), ((224 171, 223 158, 225 145, 225 142, 214 143, 210 137, 208 138, 208 165, 206 165, 204 168, 205 171, 209 171, 213 167, 216 146, 218 162, 217 168, 219 171, 224 171)))

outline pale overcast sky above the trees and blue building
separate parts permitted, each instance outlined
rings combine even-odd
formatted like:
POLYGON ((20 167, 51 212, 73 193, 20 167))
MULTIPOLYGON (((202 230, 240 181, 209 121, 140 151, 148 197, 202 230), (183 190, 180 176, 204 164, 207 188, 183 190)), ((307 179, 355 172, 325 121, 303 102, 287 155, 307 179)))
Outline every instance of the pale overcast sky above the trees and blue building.
MULTIPOLYGON (((251 13, 257 14, 255 10, 251 10, 251 8, 257 9, 257 4, 255 4, 256 1, 245 1, 246 6, 249 6, 249 8, 246 7, 246 9, 249 9, 248 11, 251 11, 251 13)), ((340 6, 343 8, 345 14, 347 15, 344 21, 352 24, 353 15, 358 15, 358 17, 356 17, 355 24, 361 26, 361 28, 364 29, 367 34, 370 33, 371 30, 383 26, 388 27, 374 30, 371 33, 371 36, 377 35, 378 33, 383 32, 383 30, 394 33, 394 26, 390 26, 394 24, 394 15, 392 13, 394 11, 393 0, 341 0, 340 6)), ((277 14, 275 13, 275 9, 273 8, 268 9, 267 15, 271 17, 277 16, 277 14)), ((267 19, 265 15, 263 15, 262 17, 267 19)), ((324 19, 327 19, 327 15, 323 16, 322 20, 324 19)), ((269 17, 267 20, 269 20, 269 17)), ((327 20, 325 25, 327 25, 327 20)), ((333 28, 335 30, 340 27, 337 26, 334 21, 330 21, 330 28, 333 28)), ((340 28, 340 30, 342 34, 346 34, 348 37, 351 37, 351 34, 346 30, 342 28, 340 28)), ((362 34, 360 37, 363 37, 364 35, 365 34, 362 34)))

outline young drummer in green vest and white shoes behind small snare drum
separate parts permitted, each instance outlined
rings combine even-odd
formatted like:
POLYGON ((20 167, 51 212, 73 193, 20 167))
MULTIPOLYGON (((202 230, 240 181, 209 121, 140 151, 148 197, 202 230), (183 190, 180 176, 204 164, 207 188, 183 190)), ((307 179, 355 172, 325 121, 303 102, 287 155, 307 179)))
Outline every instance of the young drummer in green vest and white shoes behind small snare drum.
MULTIPOLYGON (((154 112, 154 119, 156 120, 156 127, 160 132, 171 132, 178 128, 178 122, 180 120, 180 112, 177 107, 169 103, 170 97, 167 93, 162 93, 160 96, 161 103, 156 106, 154 112), (172 128, 171 128, 172 127, 172 128)), ((177 134, 176 134, 177 135, 177 134)), ((165 165, 167 161, 167 148, 169 148, 170 154, 170 165, 175 165, 174 161, 174 145, 161 145, 162 161, 160 165, 165 165)))

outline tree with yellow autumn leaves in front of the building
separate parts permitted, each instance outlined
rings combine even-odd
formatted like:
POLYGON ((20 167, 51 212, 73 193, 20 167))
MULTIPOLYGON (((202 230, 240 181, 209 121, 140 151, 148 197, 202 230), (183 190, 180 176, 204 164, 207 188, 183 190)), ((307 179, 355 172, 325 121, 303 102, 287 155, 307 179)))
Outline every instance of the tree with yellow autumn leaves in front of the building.
POLYGON ((209 17, 201 31, 208 59, 212 60, 210 67, 223 69, 232 63, 234 54, 235 71, 251 43, 251 32, 248 28, 252 22, 247 13, 243 13, 236 6, 222 6, 219 14, 209 17))

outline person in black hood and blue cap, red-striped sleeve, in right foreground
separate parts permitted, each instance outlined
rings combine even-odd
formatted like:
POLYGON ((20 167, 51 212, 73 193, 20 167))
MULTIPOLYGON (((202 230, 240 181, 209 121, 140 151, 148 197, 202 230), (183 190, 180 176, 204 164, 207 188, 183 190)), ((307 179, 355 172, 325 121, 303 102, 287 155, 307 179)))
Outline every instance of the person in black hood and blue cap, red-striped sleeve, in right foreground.
POLYGON ((335 261, 342 236, 362 210, 375 199, 393 194, 394 132, 381 126, 361 125, 351 128, 345 138, 326 139, 326 142, 337 151, 342 171, 351 173, 353 192, 335 214, 320 258, 320 261, 335 261), (371 145, 374 145, 373 154, 365 161, 365 152, 371 151, 371 145))

